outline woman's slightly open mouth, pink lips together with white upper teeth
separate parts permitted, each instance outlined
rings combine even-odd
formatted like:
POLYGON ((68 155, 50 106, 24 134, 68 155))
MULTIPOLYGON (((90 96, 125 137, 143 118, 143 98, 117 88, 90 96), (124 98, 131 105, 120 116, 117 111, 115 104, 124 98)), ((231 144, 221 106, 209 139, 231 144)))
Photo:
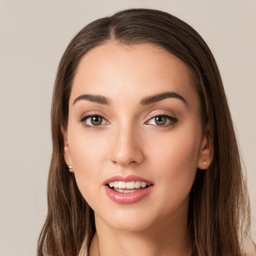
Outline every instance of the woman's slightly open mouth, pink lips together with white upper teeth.
POLYGON ((153 183, 135 175, 114 176, 103 182, 107 196, 121 204, 135 203, 152 190, 153 183))

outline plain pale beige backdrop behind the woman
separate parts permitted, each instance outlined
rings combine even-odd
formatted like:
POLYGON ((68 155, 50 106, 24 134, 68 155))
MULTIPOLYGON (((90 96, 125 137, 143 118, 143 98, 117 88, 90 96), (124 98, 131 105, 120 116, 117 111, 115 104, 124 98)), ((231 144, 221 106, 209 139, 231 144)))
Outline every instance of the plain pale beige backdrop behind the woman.
POLYGON ((88 22, 127 7, 183 19, 218 63, 247 169, 255 237, 256 0, 0 0, 0 256, 33 256, 46 216, 60 57, 88 22))

